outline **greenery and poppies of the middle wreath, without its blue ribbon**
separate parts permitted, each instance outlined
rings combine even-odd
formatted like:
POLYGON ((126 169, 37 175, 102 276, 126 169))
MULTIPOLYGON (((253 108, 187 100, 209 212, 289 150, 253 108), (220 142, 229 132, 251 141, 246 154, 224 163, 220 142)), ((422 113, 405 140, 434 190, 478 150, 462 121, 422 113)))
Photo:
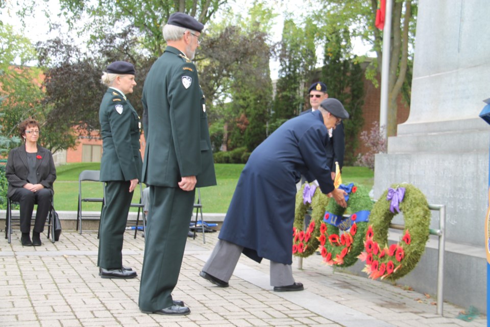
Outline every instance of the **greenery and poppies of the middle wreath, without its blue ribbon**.
MULTIPOLYGON (((371 211, 373 202, 367 190, 354 184, 349 195, 347 208, 343 208, 335 201, 330 201, 326 211, 338 216, 344 214, 355 214, 359 211, 371 211)), ((352 217, 352 216, 351 216, 352 217)), ((364 249, 364 235, 368 222, 353 223, 347 231, 340 231, 337 226, 322 222, 320 241, 320 251, 323 261, 335 267, 349 267, 356 263, 357 256, 364 249)))

